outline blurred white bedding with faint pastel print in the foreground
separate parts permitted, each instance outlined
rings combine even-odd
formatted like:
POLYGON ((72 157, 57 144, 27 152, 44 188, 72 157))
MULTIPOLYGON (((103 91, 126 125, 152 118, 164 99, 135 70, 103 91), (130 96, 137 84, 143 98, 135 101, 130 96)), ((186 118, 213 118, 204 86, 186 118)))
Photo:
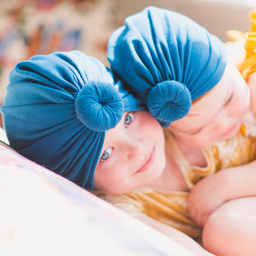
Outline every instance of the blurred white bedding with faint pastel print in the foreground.
POLYGON ((2 141, 0 255, 194 255, 2 141))

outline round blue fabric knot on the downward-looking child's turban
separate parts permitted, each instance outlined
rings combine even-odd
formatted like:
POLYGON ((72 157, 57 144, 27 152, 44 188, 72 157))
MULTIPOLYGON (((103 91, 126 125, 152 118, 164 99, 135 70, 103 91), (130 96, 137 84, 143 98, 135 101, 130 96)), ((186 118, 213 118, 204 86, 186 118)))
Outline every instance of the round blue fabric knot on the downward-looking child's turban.
POLYGON ((147 100, 151 114, 167 123, 184 117, 189 112, 191 104, 191 95, 187 87, 173 80, 154 86, 147 100))

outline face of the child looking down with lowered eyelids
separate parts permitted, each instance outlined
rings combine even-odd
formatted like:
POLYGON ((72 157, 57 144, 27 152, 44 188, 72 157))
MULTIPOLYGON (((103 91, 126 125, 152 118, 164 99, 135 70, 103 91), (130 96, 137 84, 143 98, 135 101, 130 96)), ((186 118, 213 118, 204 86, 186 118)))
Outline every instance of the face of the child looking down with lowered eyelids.
POLYGON ((221 80, 189 113, 173 122, 169 129, 177 141, 199 148, 234 137, 250 109, 251 92, 238 69, 228 62, 221 80))

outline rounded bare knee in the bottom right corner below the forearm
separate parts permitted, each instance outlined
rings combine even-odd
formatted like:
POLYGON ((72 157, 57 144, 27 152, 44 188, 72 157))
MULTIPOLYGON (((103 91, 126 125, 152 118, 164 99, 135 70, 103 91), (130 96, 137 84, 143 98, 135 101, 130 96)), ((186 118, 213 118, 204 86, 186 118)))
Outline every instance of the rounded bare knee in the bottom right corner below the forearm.
POLYGON ((218 256, 256 255, 256 197, 243 197, 222 204, 207 219, 202 242, 218 256))

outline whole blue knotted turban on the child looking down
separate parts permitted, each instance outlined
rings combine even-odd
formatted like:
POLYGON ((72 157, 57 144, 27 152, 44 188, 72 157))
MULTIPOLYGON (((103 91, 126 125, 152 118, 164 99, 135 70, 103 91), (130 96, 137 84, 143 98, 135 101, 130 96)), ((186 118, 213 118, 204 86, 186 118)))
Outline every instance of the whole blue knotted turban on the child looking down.
POLYGON ((113 74, 168 126, 218 83, 227 53, 221 40, 193 20, 151 6, 114 31, 108 59, 113 74))

